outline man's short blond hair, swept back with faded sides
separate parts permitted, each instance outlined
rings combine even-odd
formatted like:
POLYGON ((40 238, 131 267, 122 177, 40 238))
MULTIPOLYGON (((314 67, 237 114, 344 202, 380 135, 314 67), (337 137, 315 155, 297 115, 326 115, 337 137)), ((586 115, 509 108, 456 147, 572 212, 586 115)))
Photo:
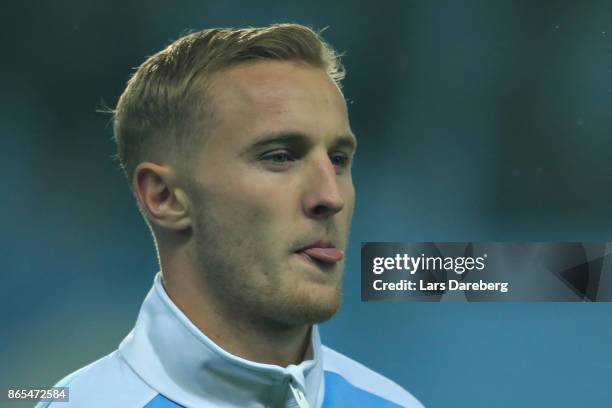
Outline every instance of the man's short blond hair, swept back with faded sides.
POLYGON ((340 55, 320 32, 300 24, 212 28, 181 37, 138 67, 113 112, 117 158, 128 181, 144 161, 184 168, 210 117, 207 78, 255 60, 306 62, 324 69, 338 87, 344 79, 340 55))

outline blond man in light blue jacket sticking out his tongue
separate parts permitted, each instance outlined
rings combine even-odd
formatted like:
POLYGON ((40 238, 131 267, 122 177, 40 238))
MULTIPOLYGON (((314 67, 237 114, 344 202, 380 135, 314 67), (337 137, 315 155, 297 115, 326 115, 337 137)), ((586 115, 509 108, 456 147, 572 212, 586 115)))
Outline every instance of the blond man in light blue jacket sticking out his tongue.
POLYGON ((421 406, 319 339, 355 199, 342 77, 296 24, 196 32, 138 68, 114 130, 161 272, 52 407, 421 406))

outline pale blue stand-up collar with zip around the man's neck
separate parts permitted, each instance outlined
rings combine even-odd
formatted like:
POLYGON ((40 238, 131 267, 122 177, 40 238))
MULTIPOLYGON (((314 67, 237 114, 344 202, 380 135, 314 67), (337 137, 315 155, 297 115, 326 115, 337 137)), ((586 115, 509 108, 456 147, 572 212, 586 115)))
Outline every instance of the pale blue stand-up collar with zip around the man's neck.
POLYGON ((206 337, 166 294, 155 276, 134 329, 119 345, 128 365, 153 389, 186 407, 285 406, 293 379, 310 407, 323 401, 319 330, 311 330, 312 360, 280 367, 245 360, 206 337))

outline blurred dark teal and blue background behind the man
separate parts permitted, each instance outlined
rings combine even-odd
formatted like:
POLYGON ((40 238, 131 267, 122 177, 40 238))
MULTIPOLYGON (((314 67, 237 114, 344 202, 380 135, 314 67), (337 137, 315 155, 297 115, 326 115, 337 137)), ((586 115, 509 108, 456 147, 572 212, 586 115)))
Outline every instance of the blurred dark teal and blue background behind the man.
POLYGON ((63 0, 2 15, 0 387, 51 385, 114 350, 157 271, 96 109, 187 29, 299 22, 346 52, 360 143, 345 302, 323 340, 427 407, 610 405, 611 304, 361 303, 359 246, 611 241, 612 3, 63 0))

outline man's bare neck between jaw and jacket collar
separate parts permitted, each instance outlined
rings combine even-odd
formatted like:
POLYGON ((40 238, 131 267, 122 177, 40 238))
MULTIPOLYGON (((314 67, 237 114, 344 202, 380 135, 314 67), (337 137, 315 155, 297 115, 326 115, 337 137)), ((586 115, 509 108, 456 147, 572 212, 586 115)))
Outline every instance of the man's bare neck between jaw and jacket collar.
POLYGON ((246 360, 286 367, 304 360, 310 326, 257 319, 214 302, 205 285, 186 270, 162 271, 166 293, 191 322, 225 351, 246 360))

